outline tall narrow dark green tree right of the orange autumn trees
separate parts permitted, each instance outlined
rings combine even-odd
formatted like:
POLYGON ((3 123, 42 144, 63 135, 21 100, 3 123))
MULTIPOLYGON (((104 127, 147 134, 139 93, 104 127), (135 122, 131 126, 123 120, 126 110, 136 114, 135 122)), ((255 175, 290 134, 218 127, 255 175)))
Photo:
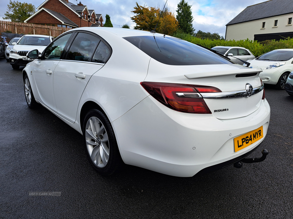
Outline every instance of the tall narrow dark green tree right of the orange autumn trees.
POLYGON ((177 20, 179 22, 179 29, 186 34, 192 35, 194 33, 194 28, 192 26, 193 16, 191 12, 191 6, 188 2, 181 0, 177 5, 177 20))

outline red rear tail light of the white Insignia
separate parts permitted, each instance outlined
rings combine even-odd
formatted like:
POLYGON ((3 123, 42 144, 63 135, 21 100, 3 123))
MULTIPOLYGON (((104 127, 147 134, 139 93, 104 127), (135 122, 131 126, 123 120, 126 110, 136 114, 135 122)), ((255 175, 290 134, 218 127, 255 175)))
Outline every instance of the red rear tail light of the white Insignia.
POLYGON ((160 103, 172 110, 188 113, 211 113, 202 92, 222 92, 218 88, 158 82, 141 82, 144 89, 160 103))

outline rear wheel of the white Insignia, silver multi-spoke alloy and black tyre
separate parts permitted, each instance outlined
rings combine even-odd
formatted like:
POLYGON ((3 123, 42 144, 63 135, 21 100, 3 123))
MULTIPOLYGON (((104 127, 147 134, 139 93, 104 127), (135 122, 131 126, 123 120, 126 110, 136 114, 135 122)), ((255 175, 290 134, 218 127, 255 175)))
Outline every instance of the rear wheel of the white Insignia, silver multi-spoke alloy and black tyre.
POLYGON ((83 137, 87 157, 104 176, 113 174, 123 164, 113 128, 100 110, 90 110, 84 118, 83 137))

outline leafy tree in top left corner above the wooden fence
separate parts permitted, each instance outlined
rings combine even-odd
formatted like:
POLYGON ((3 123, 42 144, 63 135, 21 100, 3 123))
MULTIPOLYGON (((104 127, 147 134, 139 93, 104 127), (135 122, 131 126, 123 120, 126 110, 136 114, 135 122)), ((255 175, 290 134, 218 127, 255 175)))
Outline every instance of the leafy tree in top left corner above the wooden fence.
POLYGON ((36 8, 31 3, 21 3, 19 1, 9 1, 7 4, 7 11, 3 19, 10 19, 13 22, 23 22, 36 12, 36 8), (12 12, 12 13, 9 13, 12 12))

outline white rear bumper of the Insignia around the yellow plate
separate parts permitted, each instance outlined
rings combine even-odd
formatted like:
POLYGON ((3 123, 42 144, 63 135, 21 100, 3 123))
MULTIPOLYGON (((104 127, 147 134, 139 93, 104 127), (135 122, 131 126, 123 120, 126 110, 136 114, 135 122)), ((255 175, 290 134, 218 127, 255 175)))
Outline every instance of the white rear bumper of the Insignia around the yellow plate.
POLYGON ((151 98, 112 125, 126 164, 172 176, 192 177, 242 160, 265 139, 269 127, 270 106, 266 100, 248 116, 220 120, 211 114, 170 110, 151 98), (129 126, 135 123, 137 126, 129 126), (235 152, 234 138, 261 126, 264 137, 235 152))

